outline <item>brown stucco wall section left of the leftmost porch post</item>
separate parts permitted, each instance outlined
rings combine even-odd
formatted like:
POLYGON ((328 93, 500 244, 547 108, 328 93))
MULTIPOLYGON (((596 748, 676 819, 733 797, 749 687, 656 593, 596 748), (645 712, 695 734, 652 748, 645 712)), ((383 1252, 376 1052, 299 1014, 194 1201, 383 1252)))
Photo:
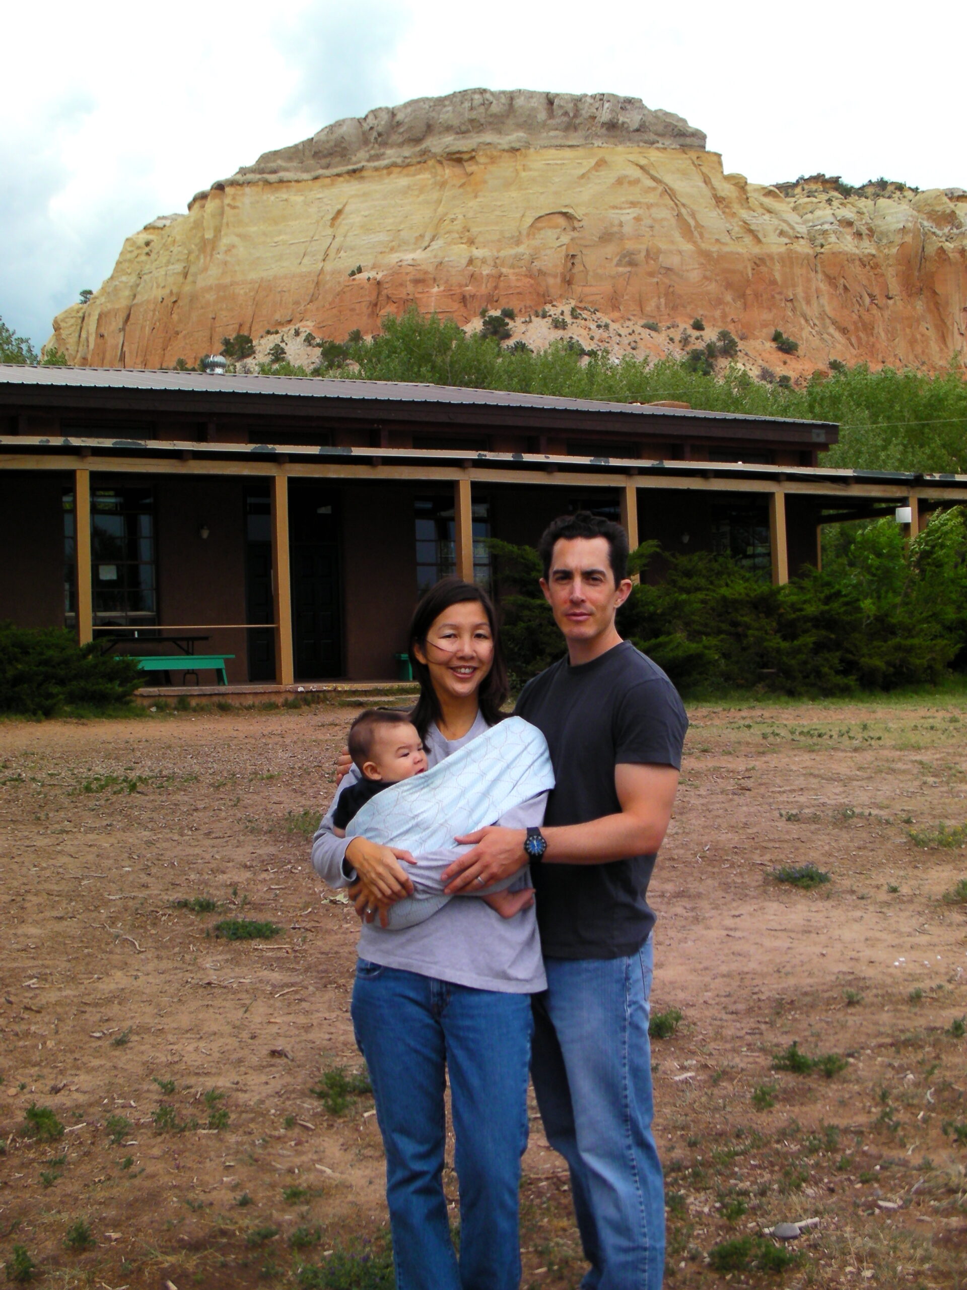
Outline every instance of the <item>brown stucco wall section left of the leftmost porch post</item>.
POLYGON ((63 627, 63 510, 67 475, 0 477, 0 619, 63 627))

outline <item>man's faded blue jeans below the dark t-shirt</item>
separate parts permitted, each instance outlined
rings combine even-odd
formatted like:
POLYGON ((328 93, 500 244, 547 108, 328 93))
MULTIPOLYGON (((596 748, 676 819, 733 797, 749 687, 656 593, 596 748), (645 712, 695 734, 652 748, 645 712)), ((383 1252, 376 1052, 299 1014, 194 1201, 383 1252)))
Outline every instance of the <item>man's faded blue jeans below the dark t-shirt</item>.
POLYGON ((661 1164, 651 1133, 652 944, 628 958, 547 958, 531 1073, 548 1142, 567 1161, 583 1290, 660 1290, 661 1164))

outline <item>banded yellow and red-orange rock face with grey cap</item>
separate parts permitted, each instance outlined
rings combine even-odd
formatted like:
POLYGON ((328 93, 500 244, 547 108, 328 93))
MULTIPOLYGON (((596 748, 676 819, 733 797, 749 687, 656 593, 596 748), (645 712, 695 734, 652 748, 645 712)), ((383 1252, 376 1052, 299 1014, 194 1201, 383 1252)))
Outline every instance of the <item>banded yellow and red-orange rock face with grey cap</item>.
MULTIPOLYGON (((752 184, 704 139, 610 94, 465 90, 379 108, 152 221, 49 343, 76 364, 193 365, 236 332, 342 339, 409 304, 463 325, 484 307, 567 301, 668 337, 700 316, 753 366, 776 365, 779 329, 799 343, 780 364, 793 375, 830 359, 963 361, 966 192, 752 184)), ((664 352, 636 334, 637 352, 664 352)))

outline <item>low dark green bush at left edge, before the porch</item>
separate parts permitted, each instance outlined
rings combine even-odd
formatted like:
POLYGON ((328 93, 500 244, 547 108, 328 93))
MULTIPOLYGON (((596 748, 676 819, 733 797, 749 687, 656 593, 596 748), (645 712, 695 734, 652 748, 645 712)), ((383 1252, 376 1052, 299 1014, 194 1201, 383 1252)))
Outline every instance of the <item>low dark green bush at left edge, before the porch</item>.
POLYGON ((50 716, 58 708, 122 703, 144 681, 129 658, 79 646, 58 627, 0 623, 0 712, 50 716))

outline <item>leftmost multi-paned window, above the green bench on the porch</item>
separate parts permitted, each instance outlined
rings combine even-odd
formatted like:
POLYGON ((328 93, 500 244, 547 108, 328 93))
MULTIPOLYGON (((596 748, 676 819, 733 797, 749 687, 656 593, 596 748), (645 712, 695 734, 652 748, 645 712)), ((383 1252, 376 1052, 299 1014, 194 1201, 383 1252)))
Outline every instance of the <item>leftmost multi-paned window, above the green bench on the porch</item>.
MULTIPOLYGON (((64 618, 75 622, 73 490, 63 494, 64 618)), ((90 562, 94 626, 151 627, 157 623, 155 494, 151 488, 93 489, 90 562)))

